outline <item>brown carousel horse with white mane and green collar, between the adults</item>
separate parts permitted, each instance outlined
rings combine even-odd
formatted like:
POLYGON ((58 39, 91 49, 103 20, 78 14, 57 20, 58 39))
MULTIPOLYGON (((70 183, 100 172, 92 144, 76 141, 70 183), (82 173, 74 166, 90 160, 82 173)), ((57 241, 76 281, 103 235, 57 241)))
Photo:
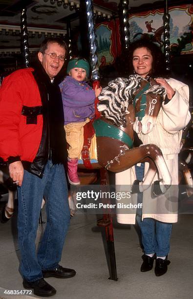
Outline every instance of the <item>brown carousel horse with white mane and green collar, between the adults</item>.
POLYGON ((156 171, 159 181, 153 193, 160 195, 170 187, 171 175, 161 150, 153 145, 133 148, 134 131, 148 134, 162 105, 165 89, 150 78, 139 75, 117 78, 102 89, 97 108, 103 117, 95 120, 98 163, 109 171, 124 171, 139 162, 150 167, 142 182, 134 181, 132 192, 143 192, 150 187, 156 171))

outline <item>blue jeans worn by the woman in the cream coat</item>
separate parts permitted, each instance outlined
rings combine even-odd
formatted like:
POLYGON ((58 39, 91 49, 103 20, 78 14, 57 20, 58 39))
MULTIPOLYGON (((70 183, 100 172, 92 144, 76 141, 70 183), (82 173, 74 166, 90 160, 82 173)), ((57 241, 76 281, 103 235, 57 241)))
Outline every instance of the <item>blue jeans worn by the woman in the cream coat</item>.
MULTIPOLYGON (((135 166, 136 177, 142 180, 144 176, 144 164, 135 166)), ((143 201, 143 193, 139 193, 137 201, 143 201)), ((152 218, 144 218, 141 221, 142 209, 136 212, 136 220, 141 229, 141 241, 146 255, 156 253, 157 257, 167 256, 170 251, 170 237, 172 223, 160 222, 152 218)))

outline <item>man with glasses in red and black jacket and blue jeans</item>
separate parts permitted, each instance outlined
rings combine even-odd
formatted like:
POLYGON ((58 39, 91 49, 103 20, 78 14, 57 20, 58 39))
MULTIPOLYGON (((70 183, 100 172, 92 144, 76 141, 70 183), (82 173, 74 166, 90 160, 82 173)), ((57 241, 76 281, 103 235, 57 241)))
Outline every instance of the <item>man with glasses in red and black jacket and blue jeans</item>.
POLYGON ((76 274, 59 265, 70 220, 59 88, 66 52, 60 38, 44 40, 34 67, 13 72, 0 89, 0 157, 18 186, 20 272, 23 287, 41 297, 56 294, 43 278, 76 274), (47 223, 36 253, 43 196, 47 223))

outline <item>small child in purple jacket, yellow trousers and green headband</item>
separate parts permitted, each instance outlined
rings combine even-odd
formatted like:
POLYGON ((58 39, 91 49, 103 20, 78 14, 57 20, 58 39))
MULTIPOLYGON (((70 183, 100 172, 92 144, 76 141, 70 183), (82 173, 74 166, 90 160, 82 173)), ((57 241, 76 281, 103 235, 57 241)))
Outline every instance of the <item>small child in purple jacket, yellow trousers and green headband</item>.
POLYGON ((67 176, 70 184, 79 185, 77 174, 78 158, 84 143, 84 126, 94 117, 94 101, 101 93, 102 87, 93 90, 86 84, 90 71, 85 59, 75 58, 69 61, 67 73, 60 84, 63 108, 64 129, 68 149, 67 176))

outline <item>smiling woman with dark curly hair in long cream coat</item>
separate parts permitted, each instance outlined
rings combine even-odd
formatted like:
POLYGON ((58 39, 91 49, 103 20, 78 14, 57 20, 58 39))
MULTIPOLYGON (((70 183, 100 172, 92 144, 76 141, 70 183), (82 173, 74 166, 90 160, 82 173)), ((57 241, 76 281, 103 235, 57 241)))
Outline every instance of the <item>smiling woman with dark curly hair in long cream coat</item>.
MULTIPOLYGON (((156 82, 165 87, 166 97, 159 111, 154 127, 148 134, 141 131, 140 126, 135 130, 143 143, 155 144, 164 155, 166 164, 172 176, 172 186, 169 190, 158 197, 153 197, 150 189, 138 194, 138 202, 143 202, 143 209, 136 211, 136 220, 141 229, 142 245, 144 255, 141 272, 150 271, 155 261, 155 275, 161 276, 167 272, 170 261, 170 237, 172 223, 177 222, 177 210, 171 211, 173 204, 171 198, 175 198, 177 206, 178 199, 178 153, 183 128, 191 119, 189 112, 189 87, 184 83, 169 77, 166 69, 164 55, 161 49, 148 40, 138 40, 129 48, 130 73, 135 73, 149 80, 154 78, 156 82)), ((145 173, 148 165, 145 163, 145 173)), ((127 184, 123 182, 131 170, 116 174, 116 184, 127 184)), ((133 169, 132 169, 133 171, 133 169)), ((144 164, 135 166, 137 179, 144 177, 144 164)), ((153 181, 158 180, 155 175, 153 181)), ((118 215, 120 223, 135 223, 135 214, 118 215)))

